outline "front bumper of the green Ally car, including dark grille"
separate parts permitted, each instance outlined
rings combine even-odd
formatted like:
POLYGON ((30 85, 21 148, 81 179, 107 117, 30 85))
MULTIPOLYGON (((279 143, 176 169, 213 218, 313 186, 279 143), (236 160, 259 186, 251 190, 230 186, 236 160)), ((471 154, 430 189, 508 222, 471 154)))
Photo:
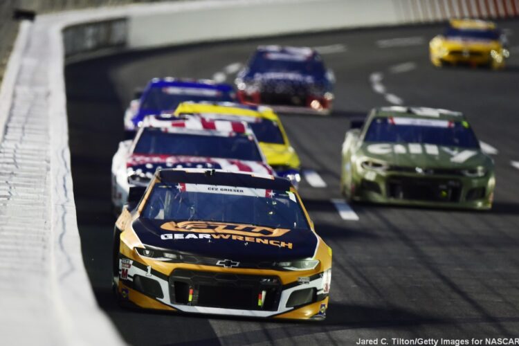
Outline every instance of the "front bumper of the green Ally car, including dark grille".
POLYGON ((493 173, 469 178, 367 171, 355 179, 352 199, 407 206, 488 210, 492 206, 494 188, 493 173))

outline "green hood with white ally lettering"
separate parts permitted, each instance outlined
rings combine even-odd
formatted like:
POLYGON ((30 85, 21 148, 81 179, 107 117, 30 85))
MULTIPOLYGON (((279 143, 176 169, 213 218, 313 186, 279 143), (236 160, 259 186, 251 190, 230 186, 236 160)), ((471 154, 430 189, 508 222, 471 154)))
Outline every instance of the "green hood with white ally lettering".
POLYGON ((363 143, 357 153, 359 158, 399 167, 464 169, 491 165, 491 158, 480 149, 419 143, 363 143))

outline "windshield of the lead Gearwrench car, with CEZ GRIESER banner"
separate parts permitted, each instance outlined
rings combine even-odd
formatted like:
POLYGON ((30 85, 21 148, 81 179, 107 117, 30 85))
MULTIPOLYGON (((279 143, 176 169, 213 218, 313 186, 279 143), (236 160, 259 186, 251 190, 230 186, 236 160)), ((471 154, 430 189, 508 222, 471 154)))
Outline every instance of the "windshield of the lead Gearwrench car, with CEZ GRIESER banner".
POLYGON ((293 192, 237 186, 157 183, 141 217, 309 230, 293 192))

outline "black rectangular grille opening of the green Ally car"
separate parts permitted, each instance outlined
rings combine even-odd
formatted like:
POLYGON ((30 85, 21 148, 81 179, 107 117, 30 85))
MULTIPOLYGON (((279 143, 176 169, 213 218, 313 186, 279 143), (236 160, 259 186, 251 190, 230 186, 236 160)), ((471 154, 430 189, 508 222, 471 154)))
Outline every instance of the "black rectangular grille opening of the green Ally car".
POLYGON ((458 202, 461 183, 455 179, 420 179, 394 176, 388 179, 388 197, 417 201, 458 202))

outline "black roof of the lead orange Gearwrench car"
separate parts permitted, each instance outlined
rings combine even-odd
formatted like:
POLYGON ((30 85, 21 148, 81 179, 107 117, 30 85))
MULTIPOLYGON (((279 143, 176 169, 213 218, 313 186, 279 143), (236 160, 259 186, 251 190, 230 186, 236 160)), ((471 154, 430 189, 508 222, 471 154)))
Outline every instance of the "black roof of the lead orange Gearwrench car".
POLYGON ((199 168, 168 168, 155 172, 163 183, 192 183, 206 185, 241 186, 244 188, 262 188, 268 190, 289 191, 288 179, 271 175, 251 174, 248 172, 227 172, 199 168))

